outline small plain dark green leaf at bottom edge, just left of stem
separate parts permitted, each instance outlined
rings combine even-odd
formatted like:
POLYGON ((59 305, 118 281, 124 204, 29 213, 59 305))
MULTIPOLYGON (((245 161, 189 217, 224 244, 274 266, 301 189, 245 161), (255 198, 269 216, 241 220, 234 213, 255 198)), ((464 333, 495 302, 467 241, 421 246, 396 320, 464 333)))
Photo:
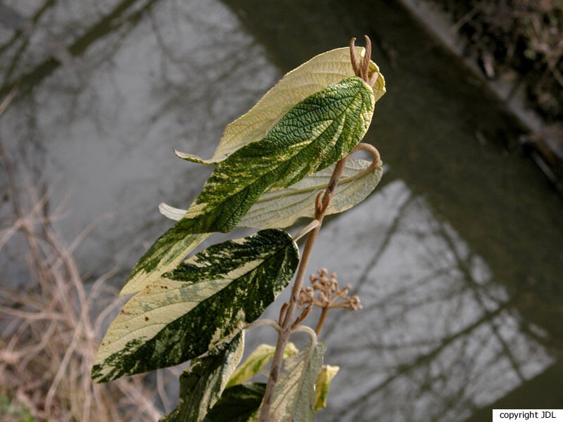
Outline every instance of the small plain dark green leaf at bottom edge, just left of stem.
POLYGON ((227 387, 203 422, 253 422, 265 391, 264 383, 227 387))

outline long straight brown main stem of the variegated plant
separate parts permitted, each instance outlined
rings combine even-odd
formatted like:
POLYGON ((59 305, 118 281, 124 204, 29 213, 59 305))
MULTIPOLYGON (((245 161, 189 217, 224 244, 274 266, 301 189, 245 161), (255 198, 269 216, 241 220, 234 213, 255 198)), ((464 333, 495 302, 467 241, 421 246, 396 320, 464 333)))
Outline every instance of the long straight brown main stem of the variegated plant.
POLYGON ((348 156, 344 157, 342 160, 336 163, 334 171, 332 172, 327 190, 324 191, 324 196, 322 200, 317 200, 317 209, 315 211, 315 219, 319 220, 319 225, 309 232, 307 240, 305 241, 305 247, 303 248, 303 256, 301 257, 301 262, 299 262, 299 268, 297 269, 297 276, 295 282, 293 283, 293 288, 291 288, 291 299, 289 300, 289 307, 285 312, 284 321, 281 324, 281 330, 276 343, 276 351, 274 352, 274 358, 272 359, 272 366, 270 367, 270 376, 266 384, 266 391, 264 393, 264 399, 262 400, 262 410, 260 411, 260 417, 258 422, 268 422, 270 416, 270 408, 272 407, 272 399, 274 397, 274 387, 277 383, 277 376, 279 371, 281 371, 281 366, 284 362, 284 350, 289 340, 289 335, 291 334, 291 325, 293 320, 293 314, 297 307, 297 302, 299 299, 299 292, 303 288, 303 279, 305 278, 305 271, 307 271, 307 266, 311 257, 312 248, 315 245, 317 236, 319 234, 320 228, 322 226, 322 219, 324 218, 325 212, 329 207, 330 200, 338 185, 339 180, 342 176, 344 167, 346 166, 346 160, 348 156))

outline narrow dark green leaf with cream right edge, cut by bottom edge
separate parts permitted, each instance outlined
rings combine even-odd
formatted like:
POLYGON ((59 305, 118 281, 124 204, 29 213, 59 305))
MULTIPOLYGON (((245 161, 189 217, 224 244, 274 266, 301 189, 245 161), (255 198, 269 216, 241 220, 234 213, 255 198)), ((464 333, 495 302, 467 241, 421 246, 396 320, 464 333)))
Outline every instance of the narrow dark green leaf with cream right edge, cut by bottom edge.
POLYGON ((220 399, 227 380, 241 362, 244 352, 244 331, 232 340, 191 361, 180 376, 178 407, 160 419, 161 422, 201 422, 220 399))

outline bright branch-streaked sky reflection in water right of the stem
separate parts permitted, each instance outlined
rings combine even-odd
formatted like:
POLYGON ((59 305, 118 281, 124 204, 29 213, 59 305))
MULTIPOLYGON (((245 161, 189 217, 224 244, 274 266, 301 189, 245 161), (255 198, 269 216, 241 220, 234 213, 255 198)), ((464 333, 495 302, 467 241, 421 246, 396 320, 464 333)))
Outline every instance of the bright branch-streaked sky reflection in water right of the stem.
POLYGON ((322 334, 341 366, 323 420, 460 421, 552 363, 482 257, 401 181, 324 227, 310 268, 336 257, 364 309, 322 334))

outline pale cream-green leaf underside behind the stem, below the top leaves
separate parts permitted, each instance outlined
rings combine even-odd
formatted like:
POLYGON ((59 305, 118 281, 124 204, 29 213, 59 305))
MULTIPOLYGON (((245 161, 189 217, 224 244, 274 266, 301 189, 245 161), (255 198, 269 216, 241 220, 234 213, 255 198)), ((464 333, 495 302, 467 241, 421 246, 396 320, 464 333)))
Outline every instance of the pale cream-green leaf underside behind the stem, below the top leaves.
MULTIPOLYGON (((370 169, 370 162, 349 158, 336 192, 327 209, 327 214, 343 212, 364 200, 381 180, 379 168, 370 169)), ((315 215, 315 198, 327 188, 334 165, 312 174, 285 189, 275 189, 264 193, 250 210, 242 217, 239 226, 268 229, 270 227, 291 226, 299 217, 315 215)), ((158 206, 160 212, 170 219, 179 220, 186 210, 170 207, 165 203, 158 206)))

